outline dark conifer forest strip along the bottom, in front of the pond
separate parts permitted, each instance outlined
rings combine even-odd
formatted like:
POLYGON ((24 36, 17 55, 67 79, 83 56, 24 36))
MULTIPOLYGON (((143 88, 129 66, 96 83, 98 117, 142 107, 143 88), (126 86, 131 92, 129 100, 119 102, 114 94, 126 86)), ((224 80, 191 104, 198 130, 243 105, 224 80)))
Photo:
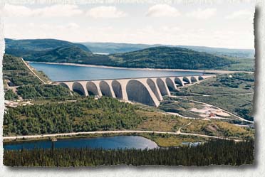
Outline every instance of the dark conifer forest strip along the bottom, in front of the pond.
POLYGON ((254 141, 211 140, 158 149, 34 149, 4 151, 5 166, 167 165, 240 166, 254 161, 254 141))

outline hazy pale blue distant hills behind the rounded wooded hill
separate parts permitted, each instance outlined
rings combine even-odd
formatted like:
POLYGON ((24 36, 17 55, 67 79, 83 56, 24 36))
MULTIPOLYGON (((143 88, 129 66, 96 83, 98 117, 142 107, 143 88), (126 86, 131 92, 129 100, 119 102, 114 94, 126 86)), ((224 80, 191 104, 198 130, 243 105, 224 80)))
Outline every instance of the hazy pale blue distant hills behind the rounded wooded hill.
POLYGON ((126 53, 145 48, 158 46, 180 47, 195 50, 197 52, 206 52, 214 55, 227 56, 232 58, 254 58, 255 50, 252 49, 232 49, 232 48, 209 48, 204 46, 192 45, 161 45, 161 44, 133 44, 133 43, 82 43, 87 46, 93 53, 126 53))

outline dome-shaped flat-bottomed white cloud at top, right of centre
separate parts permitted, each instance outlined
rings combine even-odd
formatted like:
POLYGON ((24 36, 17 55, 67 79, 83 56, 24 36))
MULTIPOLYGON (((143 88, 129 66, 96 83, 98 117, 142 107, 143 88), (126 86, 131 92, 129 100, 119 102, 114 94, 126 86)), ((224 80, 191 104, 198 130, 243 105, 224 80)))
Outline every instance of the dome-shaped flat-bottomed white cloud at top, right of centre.
POLYGON ((175 8, 167 4, 156 4, 155 6, 151 6, 146 16, 152 17, 176 17, 180 16, 180 12, 175 8))

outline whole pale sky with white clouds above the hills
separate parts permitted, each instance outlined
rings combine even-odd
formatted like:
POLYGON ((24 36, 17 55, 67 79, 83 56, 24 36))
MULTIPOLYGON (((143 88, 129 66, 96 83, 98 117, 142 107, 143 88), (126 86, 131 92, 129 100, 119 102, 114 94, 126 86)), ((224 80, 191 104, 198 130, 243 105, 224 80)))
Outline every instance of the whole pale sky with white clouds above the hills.
POLYGON ((6 38, 254 49, 254 2, 6 4, 6 38))

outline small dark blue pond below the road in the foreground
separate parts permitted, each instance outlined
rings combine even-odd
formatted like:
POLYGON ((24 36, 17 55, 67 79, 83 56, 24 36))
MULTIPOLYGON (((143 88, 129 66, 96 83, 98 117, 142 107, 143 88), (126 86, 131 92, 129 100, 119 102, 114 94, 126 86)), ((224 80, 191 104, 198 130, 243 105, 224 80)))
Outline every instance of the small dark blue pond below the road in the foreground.
MULTIPOLYGON (((14 144, 4 144, 5 150, 18 149, 48 149, 51 148, 51 141, 28 141, 18 142, 14 144)), ((54 142, 55 148, 103 148, 103 149, 154 149, 157 144, 150 139, 142 136, 109 136, 97 138, 82 138, 82 139, 58 139, 54 142)))

